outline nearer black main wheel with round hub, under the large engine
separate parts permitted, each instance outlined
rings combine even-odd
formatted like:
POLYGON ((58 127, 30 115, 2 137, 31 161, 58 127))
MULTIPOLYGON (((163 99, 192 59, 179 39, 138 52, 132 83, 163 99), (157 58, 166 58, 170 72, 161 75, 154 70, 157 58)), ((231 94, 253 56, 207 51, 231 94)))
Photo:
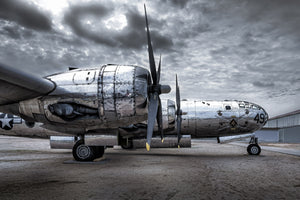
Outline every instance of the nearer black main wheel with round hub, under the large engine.
POLYGON ((91 146, 84 144, 83 140, 79 140, 73 146, 73 157, 77 161, 93 161, 95 154, 91 146))

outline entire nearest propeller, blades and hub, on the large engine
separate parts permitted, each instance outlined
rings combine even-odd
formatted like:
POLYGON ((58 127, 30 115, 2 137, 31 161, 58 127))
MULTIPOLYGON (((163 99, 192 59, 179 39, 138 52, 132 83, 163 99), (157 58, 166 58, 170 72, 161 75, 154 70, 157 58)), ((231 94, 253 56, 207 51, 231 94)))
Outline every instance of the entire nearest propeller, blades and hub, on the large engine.
POLYGON ((146 5, 145 9, 145 20, 146 20, 146 29, 147 29, 147 41, 148 41, 148 55, 149 55, 149 65, 150 72, 152 77, 152 83, 148 86, 148 126, 147 126, 147 142, 146 148, 147 151, 150 150, 151 139, 153 135, 153 129, 155 125, 155 119, 157 120, 158 128, 161 133, 161 139, 163 142, 163 125, 162 125, 162 108, 161 100, 159 95, 163 93, 169 93, 171 87, 169 85, 160 85, 160 70, 161 70, 161 58, 159 59, 158 71, 156 71, 155 60, 153 55, 153 48, 151 44, 151 37, 148 25, 146 5))

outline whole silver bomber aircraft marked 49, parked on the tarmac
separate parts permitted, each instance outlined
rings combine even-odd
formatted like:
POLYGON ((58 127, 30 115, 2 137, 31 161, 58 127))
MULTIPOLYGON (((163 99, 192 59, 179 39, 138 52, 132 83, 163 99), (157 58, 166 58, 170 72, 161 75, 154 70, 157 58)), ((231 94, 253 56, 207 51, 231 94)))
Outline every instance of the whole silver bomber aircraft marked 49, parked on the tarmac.
MULTIPOLYGON (((141 136, 147 137, 150 150, 155 120, 162 141, 164 131, 176 131, 178 144, 182 133, 219 137, 262 127, 266 112, 247 102, 182 101, 181 109, 177 81, 176 110, 173 101, 161 101, 160 94, 171 88, 160 84, 161 60, 156 71, 146 7, 145 21, 150 73, 138 66, 107 64, 39 78, 0 65, 0 111, 18 115, 28 124, 41 122, 46 129, 74 135, 77 161, 102 157, 106 146, 141 136), (145 131, 137 131, 142 134, 130 130, 145 120, 145 131)), ((251 143, 248 152, 259 154, 257 141, 251 143)))

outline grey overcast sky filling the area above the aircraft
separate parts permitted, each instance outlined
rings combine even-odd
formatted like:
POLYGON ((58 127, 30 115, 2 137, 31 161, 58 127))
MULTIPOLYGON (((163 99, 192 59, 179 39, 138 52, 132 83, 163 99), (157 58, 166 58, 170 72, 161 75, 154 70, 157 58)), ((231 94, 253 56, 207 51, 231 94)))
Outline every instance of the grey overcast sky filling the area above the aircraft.
POLYGON ((300 109, 300 1, 1 0, 0 63, 39 76, 69 66, 149 68, 143 3, 161 83, 174 98, 300 109))

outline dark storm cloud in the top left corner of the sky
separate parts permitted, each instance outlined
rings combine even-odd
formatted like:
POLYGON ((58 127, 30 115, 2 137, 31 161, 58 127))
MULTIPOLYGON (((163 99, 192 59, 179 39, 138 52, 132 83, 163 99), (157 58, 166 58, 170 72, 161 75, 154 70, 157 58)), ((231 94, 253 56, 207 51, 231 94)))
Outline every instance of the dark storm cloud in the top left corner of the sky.
POLYGON ((51 20, 48 16, 26 2, 1 0, 0 18, 15 21, 21 26, 34 30, 51 30, 51 20))

